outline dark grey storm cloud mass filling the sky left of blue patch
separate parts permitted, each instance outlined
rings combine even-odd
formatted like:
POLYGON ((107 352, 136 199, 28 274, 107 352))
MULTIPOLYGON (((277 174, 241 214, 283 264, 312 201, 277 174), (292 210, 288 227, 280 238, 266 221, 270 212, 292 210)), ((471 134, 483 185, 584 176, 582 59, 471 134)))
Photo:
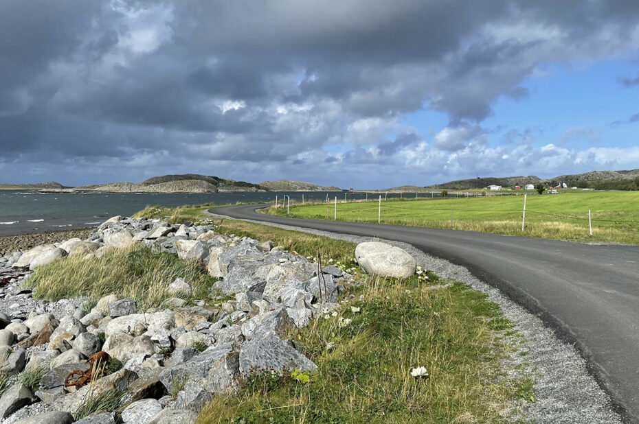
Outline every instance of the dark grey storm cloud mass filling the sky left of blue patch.
POLYGON ((529 97, 539 64, 636 48, 637 17, 634 1, 3 0, 0 167, 419 163, 403 114, 447 113, 430 145, 476 149, 495 99, 529 97))

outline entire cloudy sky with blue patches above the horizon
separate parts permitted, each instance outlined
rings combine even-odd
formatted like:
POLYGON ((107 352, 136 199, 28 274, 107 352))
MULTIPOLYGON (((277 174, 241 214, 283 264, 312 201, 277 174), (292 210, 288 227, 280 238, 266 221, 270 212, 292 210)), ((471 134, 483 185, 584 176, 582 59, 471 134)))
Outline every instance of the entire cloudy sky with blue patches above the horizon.
POLYGON ((639 168, 636 0, 2 0, 0 182, 639 168))

